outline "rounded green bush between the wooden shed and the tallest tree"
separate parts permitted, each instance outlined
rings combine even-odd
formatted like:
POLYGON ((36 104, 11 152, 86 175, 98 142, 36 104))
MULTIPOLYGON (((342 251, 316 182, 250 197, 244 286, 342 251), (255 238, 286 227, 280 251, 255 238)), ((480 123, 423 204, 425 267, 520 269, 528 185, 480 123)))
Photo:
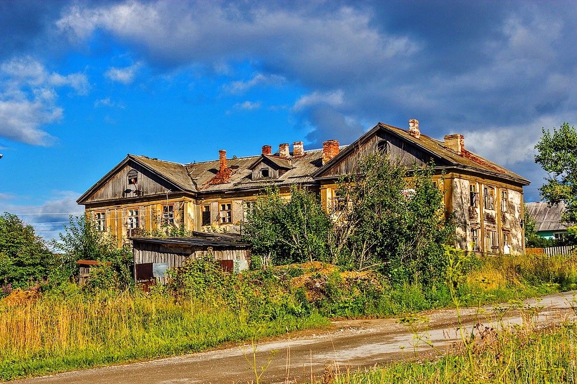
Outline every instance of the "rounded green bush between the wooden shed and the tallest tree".
POLYGON ((278 187, 267 187, 247 215, 243 237, 261 264, 326 261, 331 219, 321 208, 319 197, 291 185, 290 197, 278 187))

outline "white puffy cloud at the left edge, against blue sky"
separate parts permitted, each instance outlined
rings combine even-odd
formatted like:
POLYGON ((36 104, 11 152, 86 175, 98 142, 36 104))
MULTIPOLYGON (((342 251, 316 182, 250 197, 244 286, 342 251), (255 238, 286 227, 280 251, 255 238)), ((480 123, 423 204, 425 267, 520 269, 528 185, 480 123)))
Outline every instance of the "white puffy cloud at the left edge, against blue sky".
POLYGON ((55 138, 42 129, 62 119, 56 88, 88 92, 86 75, 50 73, 30 56, 0 64, 0 136, 30 145, 51 145, 55 138))

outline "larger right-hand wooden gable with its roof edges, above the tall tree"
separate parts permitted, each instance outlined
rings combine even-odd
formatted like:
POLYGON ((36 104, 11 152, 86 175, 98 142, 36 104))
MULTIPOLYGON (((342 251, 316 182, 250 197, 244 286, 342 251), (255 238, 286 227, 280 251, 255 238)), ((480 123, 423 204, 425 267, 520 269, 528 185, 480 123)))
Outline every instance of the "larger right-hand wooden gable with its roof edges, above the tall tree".
POLYGON ((445 165, 445 161, 440 157, 421 149, 408 140, 405 140, 394 132, 376 126, 356 142, 347 146, 342 153, 339 153, 323 168, 316 172, 314 178, 335 178, 354 172, 359 159, 372 154, 385 147, 385 150, 392 159, 399 159, 400 164, 408 168, 416 164, 423 166, 433 161, 435 165, 445 165))

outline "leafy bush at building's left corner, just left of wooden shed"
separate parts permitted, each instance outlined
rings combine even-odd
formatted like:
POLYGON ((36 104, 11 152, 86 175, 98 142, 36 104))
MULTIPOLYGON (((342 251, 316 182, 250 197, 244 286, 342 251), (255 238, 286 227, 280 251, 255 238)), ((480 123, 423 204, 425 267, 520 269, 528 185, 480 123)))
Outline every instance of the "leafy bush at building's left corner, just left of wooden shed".
MULTIPOLYGON (((112 263, 119 283, 115 286, 126 286, 133 282, 130 272, 133 255, 128 245, 118 246, 118 239, 110 233, 98 229, 90 214, 70 216, 69 225, 64 226, 65 233, 60 233, 60 241, 51 242, 53 248, 61 250, 61 273, 63 277, 76 275, 78 260, 109 261, 112 263)), ((106 268, 106 267, 103 267, 106 268)), ((106 273, 104 274, 106 276, 106 273)), ((102 283, 102 286, 106 284, 102 283)))

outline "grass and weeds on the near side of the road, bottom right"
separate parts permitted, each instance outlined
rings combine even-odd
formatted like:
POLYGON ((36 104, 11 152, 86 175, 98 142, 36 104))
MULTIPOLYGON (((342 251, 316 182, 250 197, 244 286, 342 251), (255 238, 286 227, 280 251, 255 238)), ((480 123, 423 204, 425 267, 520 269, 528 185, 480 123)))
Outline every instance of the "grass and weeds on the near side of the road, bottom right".
POLYGON ((392 363, 372 370, 344 371, 335 384, 552 384, 577 379, 575 325, 541 333, 505 333, 491 343, 477 345, 474 371, 466 353, 449 353, 436 361, 392 363), (473 375, 474 378, 473 379, 473 375), (572 377, 571 377, 572 375, 572 377))

